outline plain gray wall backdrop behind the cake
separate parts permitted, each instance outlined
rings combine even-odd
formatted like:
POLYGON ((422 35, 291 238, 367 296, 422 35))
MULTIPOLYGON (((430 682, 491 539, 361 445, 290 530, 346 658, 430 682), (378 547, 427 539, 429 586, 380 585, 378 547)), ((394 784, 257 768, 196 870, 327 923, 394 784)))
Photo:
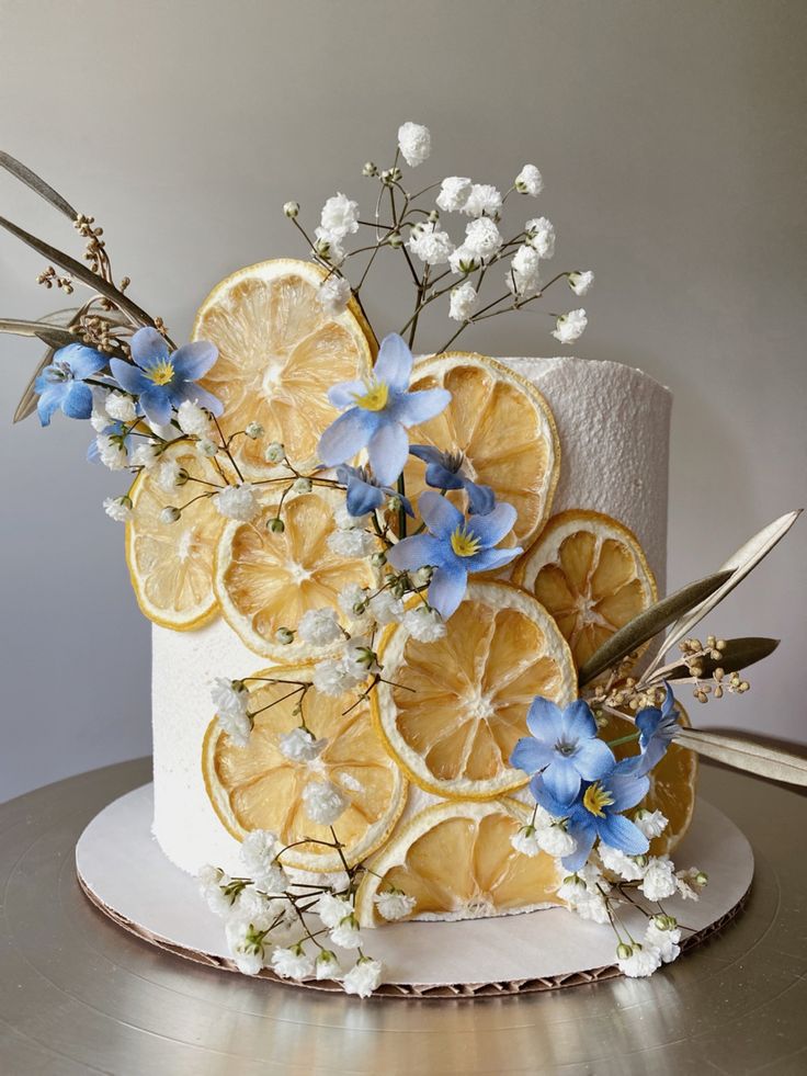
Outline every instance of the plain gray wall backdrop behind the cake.
MULTIPOLYGON (((424 177, 505 185, 534 161, 556 262, 598 274, 580 353, 674 390, 678 586, 805 501, 806 31, 800 0, 5 0, 2 143, 95 215, 117 274, 178 339, 219 278, 303 254, 286 199, 314 223, 337 189, 366 205, 361 165, 389 157, 404 120, 432 128, 424 177)), ((2 177, 0 206, 77 238, 2 177)), ((59 305, 41 268, 0 236, 0 316, 59 305)), ((382 329, 393 293, 371 299, 382 329)), ((548 327, 492 320, 465 346, 553 353, 548 327)), ((100 507, 123 483, 84 464, 84 423, 12 428, 38 349, 0 350, 3 798, 150 737, 149 627, 100 507)), ((714 616, 784 642, 703 724, 806 738, 806 526, 714 616)))

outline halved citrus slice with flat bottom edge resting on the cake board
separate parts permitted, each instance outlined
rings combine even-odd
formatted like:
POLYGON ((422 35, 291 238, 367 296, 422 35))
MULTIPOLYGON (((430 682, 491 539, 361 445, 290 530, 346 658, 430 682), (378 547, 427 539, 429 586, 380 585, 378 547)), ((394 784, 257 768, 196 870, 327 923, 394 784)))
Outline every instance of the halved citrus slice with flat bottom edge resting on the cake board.
POLYGON ((562 904, 564 871, 539 852, 516 852, 510 838, 530 812, 509 800, 455 800, 417 814, 371 861, 356 892, 356 917, 384 920, 374 897, 390 887, 414 898, 408 918, 470 919, 562 904))

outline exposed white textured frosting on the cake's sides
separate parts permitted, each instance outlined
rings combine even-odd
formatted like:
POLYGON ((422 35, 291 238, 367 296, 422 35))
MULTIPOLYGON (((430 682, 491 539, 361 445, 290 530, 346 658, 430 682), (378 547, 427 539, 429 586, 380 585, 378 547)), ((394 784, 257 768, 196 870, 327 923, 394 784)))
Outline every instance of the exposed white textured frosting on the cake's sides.
MULTIPOLYGON (((503 359, 536 385, 555 415, 561 449, 553 512, 588 508, 629 526, 659 592, 667 567, 670 392, 639 370, 582 359, 503 359)), ((238 842, 211 806, 202 743, 213 717, 209 682, 266 666, 220 619, 194 632, 152 627, 154 834, 178 867, 215 863, 238 873, 238 842)), ((410 788, 404 818, 436 802, 410 788)))

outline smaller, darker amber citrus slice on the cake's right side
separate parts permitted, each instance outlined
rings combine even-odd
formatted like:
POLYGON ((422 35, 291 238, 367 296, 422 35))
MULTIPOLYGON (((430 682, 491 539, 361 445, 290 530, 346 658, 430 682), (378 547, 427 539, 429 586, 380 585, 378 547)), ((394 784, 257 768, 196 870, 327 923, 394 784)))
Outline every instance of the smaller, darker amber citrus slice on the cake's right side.
POLYGON ((578 668, 657 599, 636 536, 601 512, 554 516, 513 571, 557 621, 578 668))

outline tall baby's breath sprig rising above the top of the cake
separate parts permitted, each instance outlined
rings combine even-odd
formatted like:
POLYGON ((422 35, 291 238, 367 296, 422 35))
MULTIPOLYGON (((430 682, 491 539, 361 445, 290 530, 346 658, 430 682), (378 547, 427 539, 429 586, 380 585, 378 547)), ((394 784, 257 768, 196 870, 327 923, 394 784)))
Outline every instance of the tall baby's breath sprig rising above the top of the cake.
MULTIPOLYGON (((353 298, 361 305, 361 291, 383 249, 400 252, 414 287, 414 303, 404 321, 400 335, 410 347, 422 313, 436 301, 448 297, 448 316, 458 326, 442 344, 446 350, 468 327, 491 317, 520 310, 544 297, 553 285, 565 280, 573 294, 584 295, 594 279, 590 271, 556 273, 546 283, 541 280, 542 262, 555 252, 555 229, 546 217, 535 217, 502 235, 500 225, 505 203, 511 196, 537 197, 543 178, 534 165, 525 165, 502 194, 496 186, 474 183, 466 177, 447 177, 412 191, 405 181, 402 163, 422 165, 431 154, 431 134, 421 124, 405 123, 398 131, 398 146, 391 165, 379 167, 367 161, 362 174, 377 183, 372 219, 360 214, 359 204, 342 193, 328 199, 322 206, 320 224, 310 235, 299 220, 298 202, 286 202, 285 216, 305 239, 311 258, 327 272, 320 286, 320 302, 331 313, 344 309, 353 298), (439 190, 435 202, 424 202, 439 190), (467 218, 465 236, 455 242, 443 227, 443 215, 461 214, 467 218), (348 249, 348 241, 360 229, 370 229, 373 241, 348 249), (357 282, 351 286, 344 267, 350 259, 368 256, 357 282), (486 280, 491 270, 505 267, 503 288, 496 298, 479 306, 486 280)), ((363 307, 362 307, 363 309, 363 307)), ((561 343, 572 343, 586 328, 583 309, 548 313, 555 322, 553 335, 561 343)))

